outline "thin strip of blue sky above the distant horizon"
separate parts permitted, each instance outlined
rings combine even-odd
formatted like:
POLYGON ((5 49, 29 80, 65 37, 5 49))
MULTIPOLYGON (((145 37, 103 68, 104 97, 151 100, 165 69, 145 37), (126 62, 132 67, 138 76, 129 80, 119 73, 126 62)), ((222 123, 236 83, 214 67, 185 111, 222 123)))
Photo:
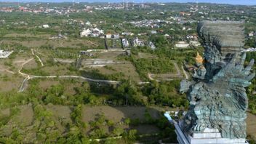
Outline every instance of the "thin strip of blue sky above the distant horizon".
MULTIPOLYGON (((73 1, 73 0, 0 0, 0 1, 41 1, 41 2, 64 2, 64 1, 73 1)), ((75 1, 84 1, 84 2, 122 2, 123 0, 75 0, 75 1)), ((126 1, 126 0, 124 0, 126 1)), ((196 2, 196 0, 127 0, 135 2, 196 2)), ((217 3, 217 4, 242 4, 242 5, 256 5, 256 0, 198 0, 200 2, 207 3, 217 3)))

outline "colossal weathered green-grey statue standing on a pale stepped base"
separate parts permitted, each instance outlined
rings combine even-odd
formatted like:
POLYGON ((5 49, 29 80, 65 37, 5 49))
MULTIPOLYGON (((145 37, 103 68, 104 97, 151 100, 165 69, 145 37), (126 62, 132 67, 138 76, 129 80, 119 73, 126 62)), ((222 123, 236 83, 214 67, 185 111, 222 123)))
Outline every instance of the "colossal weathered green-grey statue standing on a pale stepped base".
POLYGON ((199 23, 205 63, 199 65, 192 81, 183 80, 180 86, 180 92, 187 93, 191 104, 180 121, 185 135, 192 137, 194 133, 204 133, 205 129, 218 129, 221 143, 245 141, 248 108, 245 87, 251 84, 249 81, 255 73, 251 73, 254 60, 244 68, 243 29, 242 22, 199 23))

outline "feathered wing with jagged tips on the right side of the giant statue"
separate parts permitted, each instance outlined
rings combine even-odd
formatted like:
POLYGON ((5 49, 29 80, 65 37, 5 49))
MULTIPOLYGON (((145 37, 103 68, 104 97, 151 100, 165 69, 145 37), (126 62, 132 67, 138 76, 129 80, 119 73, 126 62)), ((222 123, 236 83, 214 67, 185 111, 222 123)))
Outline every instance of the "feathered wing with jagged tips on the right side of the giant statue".
POLYGON ((246 53, 244 52, 239 60, 237 54, 233 55, 233 58, 229 63, 227 63, 212 79, 215 85, 218 87, 226 86, 222 92, 225 97, 230 98, 236 107, 245 111, 248 106, 248 99, 246 95, 246 90, 244 87, 248 87, 251 84, 255 76, 255 73, 251 73, 251 69, 255 60, 251 60, 249 65, 244 68, 244 60, 246 58, 246 53))

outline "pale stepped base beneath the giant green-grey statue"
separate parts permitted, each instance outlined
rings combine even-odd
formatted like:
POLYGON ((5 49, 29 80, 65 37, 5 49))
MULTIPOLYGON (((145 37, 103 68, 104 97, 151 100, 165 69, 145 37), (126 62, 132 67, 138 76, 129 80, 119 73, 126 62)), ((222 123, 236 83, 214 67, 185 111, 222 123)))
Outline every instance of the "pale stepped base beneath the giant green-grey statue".
POLYGON ((192 135, 185 135, 179 124, 175 124, 175 132, 179 144, 249 144, 245 139, 222 138, 218 129, 205 129, 204 132, 195 132, 192 135))

